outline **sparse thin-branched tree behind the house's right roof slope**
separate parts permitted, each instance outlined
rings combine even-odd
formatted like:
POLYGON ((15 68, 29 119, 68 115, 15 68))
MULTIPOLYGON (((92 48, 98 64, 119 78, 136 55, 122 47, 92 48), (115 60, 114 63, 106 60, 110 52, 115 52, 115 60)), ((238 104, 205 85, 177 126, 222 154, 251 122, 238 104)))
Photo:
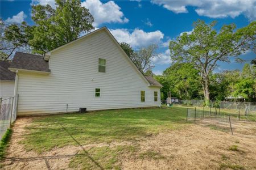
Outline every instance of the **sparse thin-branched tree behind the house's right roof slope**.
POLYGON ((142 73, 146 73, 147 70, 154 68, 152 59, 158 56, 156 53, 157 48, 157 45, 152 44, 146 48, 143 47, 139 49, 137 52, 134 52, 133 55, 130 56, 131 60, 142 73))

